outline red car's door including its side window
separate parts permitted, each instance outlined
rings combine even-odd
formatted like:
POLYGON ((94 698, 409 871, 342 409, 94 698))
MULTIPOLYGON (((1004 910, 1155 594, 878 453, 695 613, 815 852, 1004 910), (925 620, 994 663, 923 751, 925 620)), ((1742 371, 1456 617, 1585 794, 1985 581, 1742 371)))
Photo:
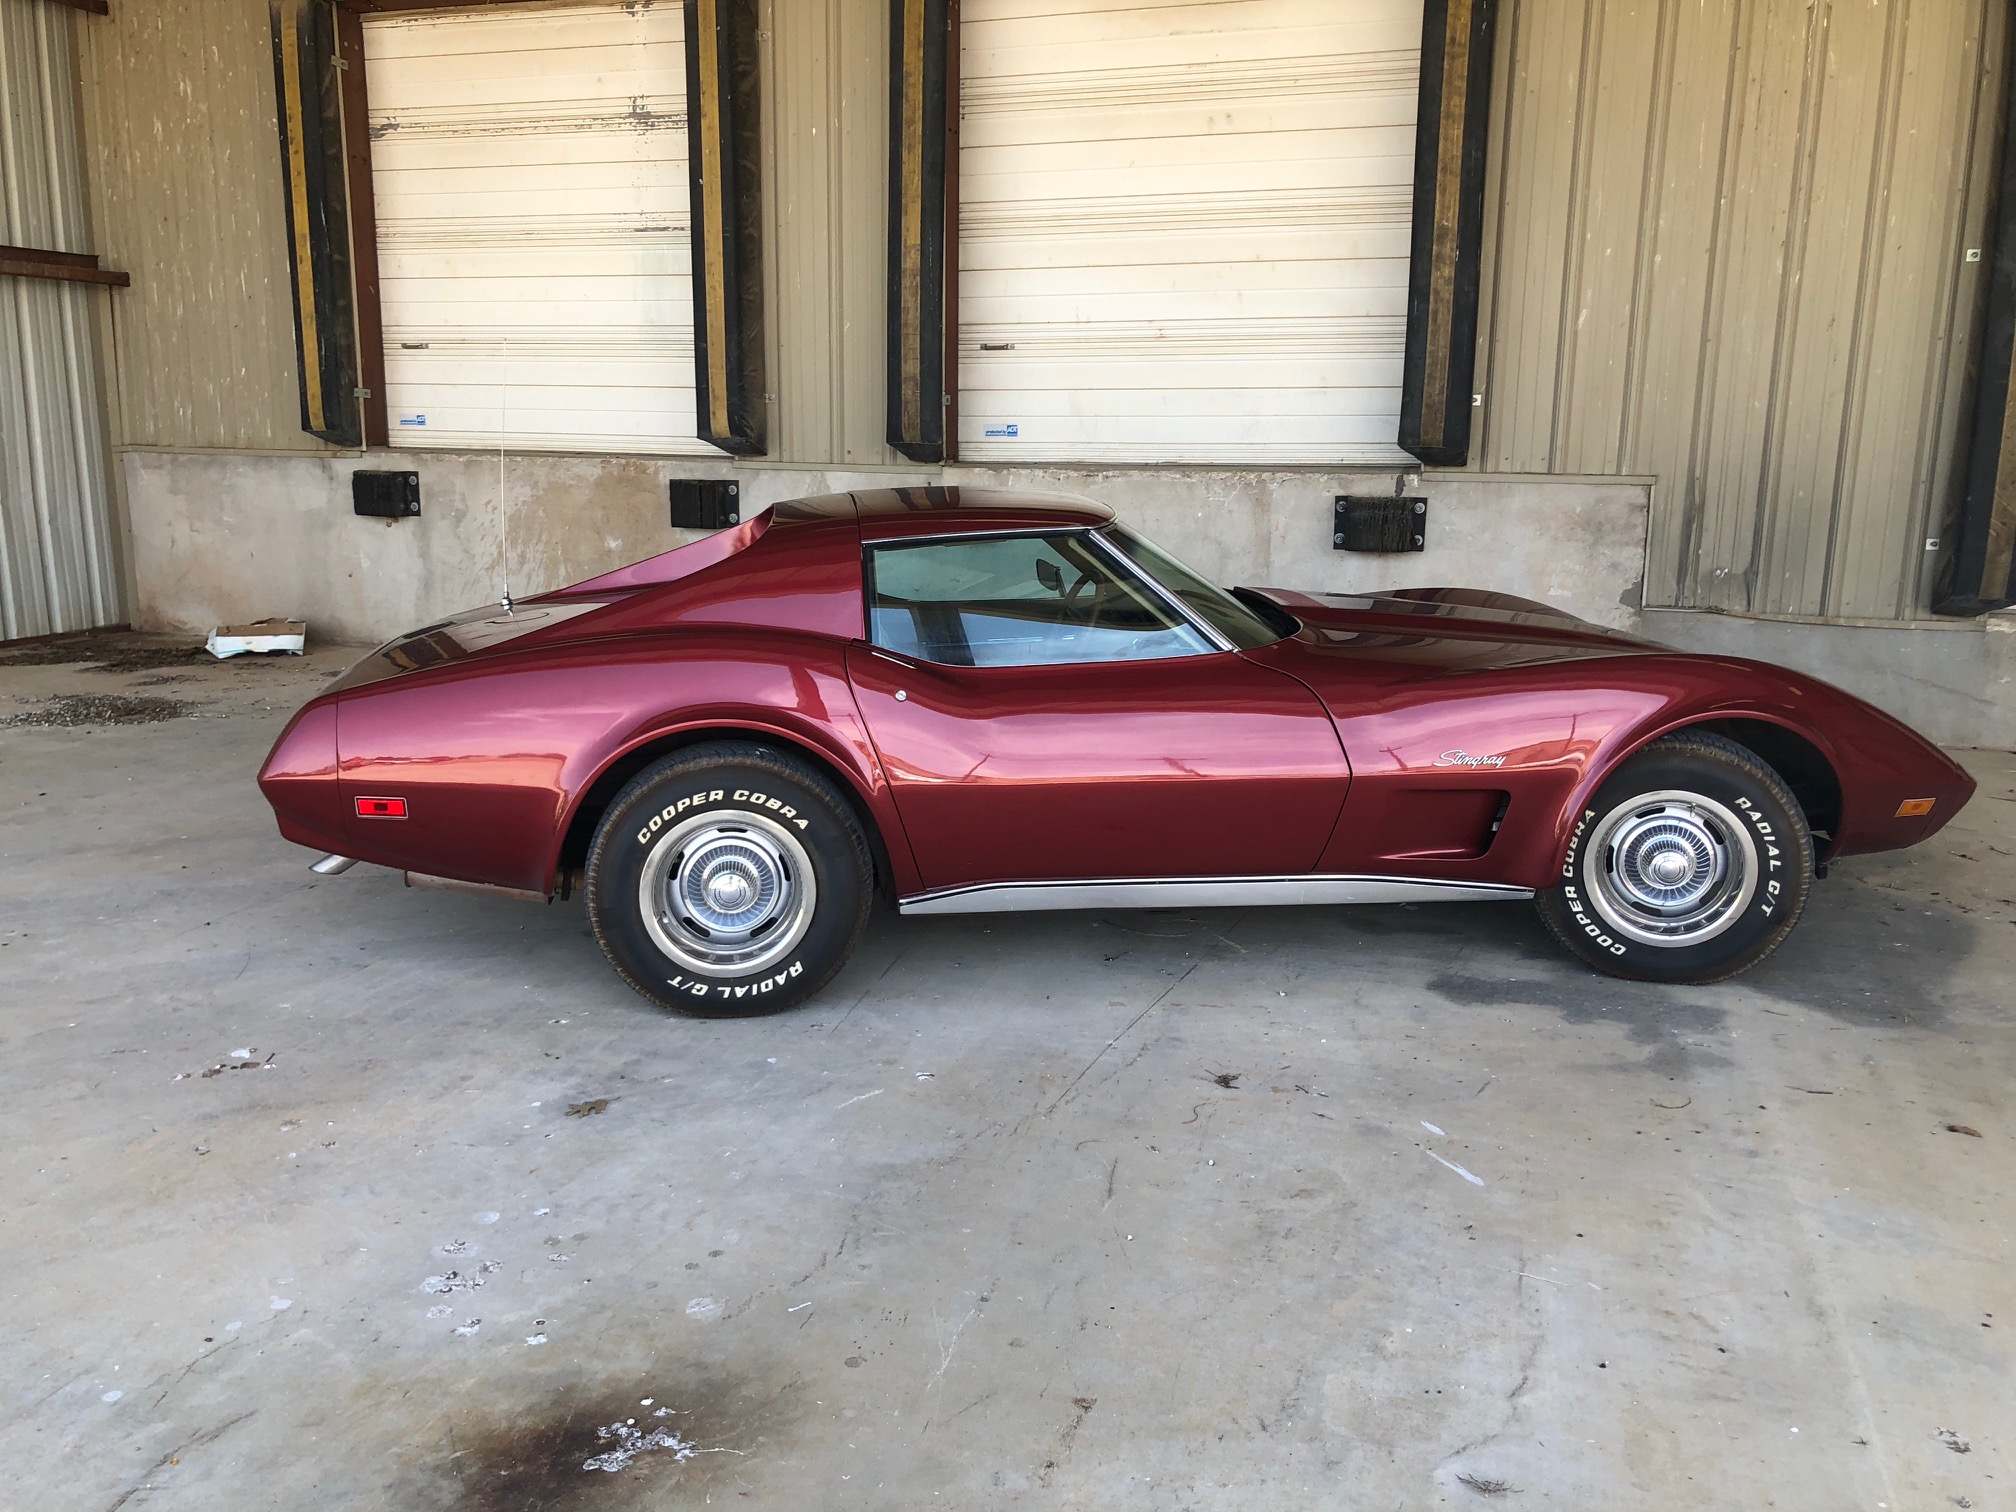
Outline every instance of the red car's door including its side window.
POLYGON ((1329 714, 1087 532, 871 546, 867 591, 847 669, 927 889, 1314 867, 1329 714))

